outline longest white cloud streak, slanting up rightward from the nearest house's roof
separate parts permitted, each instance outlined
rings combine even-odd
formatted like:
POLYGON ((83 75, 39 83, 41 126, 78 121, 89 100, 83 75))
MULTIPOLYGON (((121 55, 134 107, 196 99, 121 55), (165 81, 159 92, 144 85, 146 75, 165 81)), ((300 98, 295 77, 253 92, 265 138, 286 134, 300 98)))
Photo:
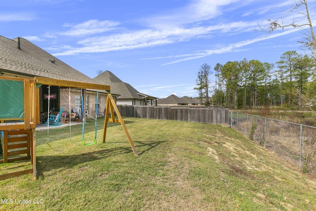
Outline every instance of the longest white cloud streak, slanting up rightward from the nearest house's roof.
POLYGON ((64 52, 55 53, 54 55, 109 52, 166 45, 174 42, 184 42, 212 33, 246 32, 252 30, 252 27, 256 24, 256 22, 234 22, 206 27, 166 27, 161 30, 143 29, 110 36, 90 37, 78 42, 78 44, 83 45, 83 47, 73 48, 64 52))

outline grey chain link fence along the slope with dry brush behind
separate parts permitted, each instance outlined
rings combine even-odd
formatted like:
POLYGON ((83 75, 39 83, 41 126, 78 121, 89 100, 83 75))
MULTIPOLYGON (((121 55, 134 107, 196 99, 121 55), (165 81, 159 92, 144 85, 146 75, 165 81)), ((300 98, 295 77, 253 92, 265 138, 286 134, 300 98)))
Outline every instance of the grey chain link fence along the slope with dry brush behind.
POLYGON ((229 124, 259 145, 316 175, 316 127, 229 112, 229 124))

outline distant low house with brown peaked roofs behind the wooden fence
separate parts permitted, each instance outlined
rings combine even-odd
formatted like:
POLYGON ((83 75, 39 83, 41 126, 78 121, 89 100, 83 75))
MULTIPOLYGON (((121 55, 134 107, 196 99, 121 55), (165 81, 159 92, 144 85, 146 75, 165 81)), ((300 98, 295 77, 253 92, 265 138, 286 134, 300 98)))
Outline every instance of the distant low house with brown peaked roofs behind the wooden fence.
POLYGON ((200 105, 198 98, 190 98, 187 96, 184 97, 177 97, 174 94, 171 94, 167 98, 158 99, 157 100, 158 106, 197 106, 200 105))

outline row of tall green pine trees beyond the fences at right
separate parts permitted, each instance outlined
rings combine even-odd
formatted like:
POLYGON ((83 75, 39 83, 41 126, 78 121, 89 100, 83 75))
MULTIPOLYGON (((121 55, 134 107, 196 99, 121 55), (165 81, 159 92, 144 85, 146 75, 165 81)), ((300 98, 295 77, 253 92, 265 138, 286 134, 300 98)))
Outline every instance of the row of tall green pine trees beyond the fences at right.
POLYGON ((276 64, 250 60, 201 65, 195 89, 205 105, 231 109, 280 106, 294 109, 316 104, 315 59, 287 51, 276 64), (210 75, 215 72, 215 84, 210 75))

